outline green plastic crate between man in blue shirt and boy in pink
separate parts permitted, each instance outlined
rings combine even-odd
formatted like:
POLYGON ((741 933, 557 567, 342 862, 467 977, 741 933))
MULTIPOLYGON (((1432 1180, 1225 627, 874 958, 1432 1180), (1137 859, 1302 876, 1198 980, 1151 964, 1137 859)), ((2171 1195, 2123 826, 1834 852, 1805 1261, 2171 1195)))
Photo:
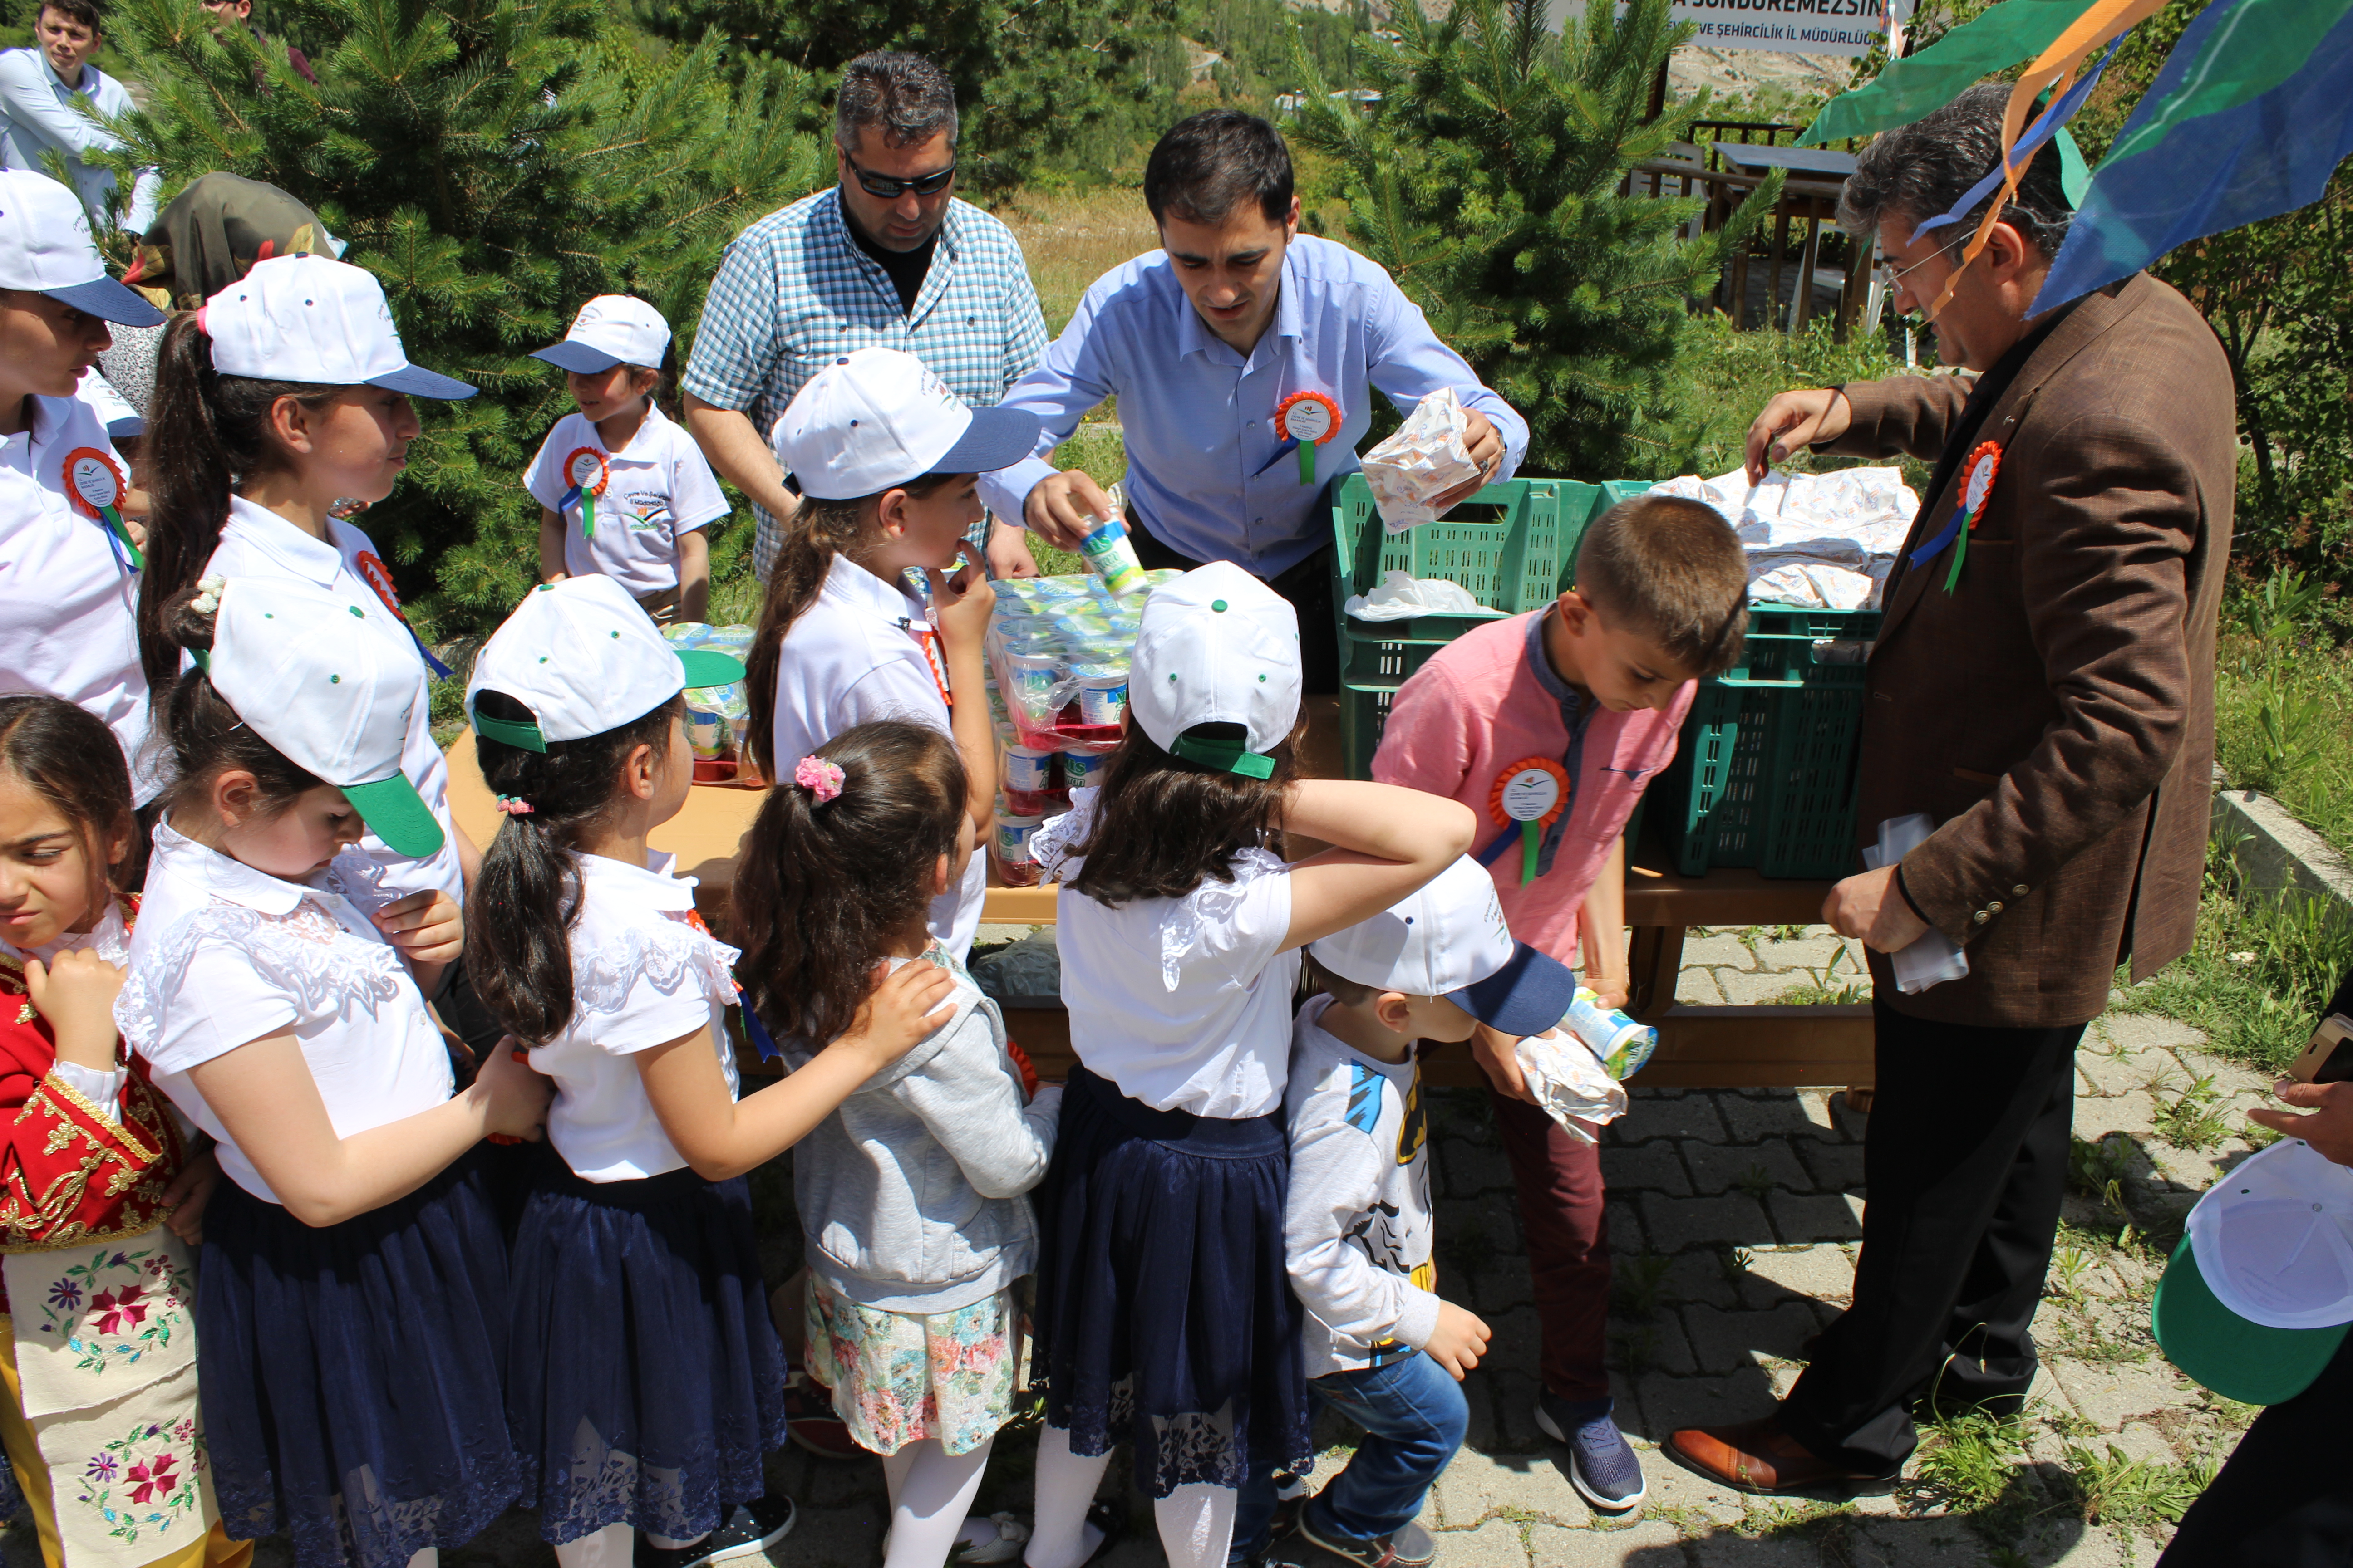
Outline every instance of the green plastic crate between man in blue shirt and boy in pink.
POLYGON ((1372 776, 1372 752, 1381 745, 1398 686, 1431 654, 1492 618, 1351 621, 1351 595, 1405 571, 1461 583, 1480 604, 1506 616, 1541 609, 1574 578, 1586 527, 1645 489, 1647 480, 1508 480, 1485 487, 1442 522, 1388 534, 1365 475, 1341 480, 1332 503, 1332 616, 1339 623, 1339 733, 1348 778, 1372 776))

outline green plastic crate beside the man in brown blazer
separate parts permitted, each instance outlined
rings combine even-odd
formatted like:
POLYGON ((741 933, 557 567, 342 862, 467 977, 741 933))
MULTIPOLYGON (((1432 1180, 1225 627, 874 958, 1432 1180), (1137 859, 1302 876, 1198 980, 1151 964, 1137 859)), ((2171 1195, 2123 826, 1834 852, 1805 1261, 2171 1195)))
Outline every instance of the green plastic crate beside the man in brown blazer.
POLYGON ((1675 870, 1751 865, 1765 877, 1845 877, 1854 839, 1854 752, 1864 729, 1861 644, 1875 609, 1753 604, 1741 665, 1699 682, 1666 776, 1652 785, 1675 870), (1817 644, 1845 644, 1817 649, 1817 644), (1833 661, 1838 654, 1852 663, 1833 661))

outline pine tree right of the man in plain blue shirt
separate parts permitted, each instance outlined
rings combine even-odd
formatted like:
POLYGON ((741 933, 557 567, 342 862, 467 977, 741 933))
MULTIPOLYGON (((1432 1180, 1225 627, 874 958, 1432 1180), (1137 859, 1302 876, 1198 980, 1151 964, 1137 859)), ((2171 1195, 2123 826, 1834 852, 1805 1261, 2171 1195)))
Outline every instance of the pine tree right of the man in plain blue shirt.
POLYGON ((1527 470, 1581 480, 1680 473, 1678 350, 1689 299, 1772 212, 1779 176, 1734 221, 1680 230, 1697 200, 1619 195, 1631 165, 1689 134, 1706 96, 1649 120, 1668 0, 1586 5, 1562 38, 1546 0, 1402 0, 1358 42, 1372 115, 1334 103, 1315 63, 1299 139, 1339 158, 1348 235, 1438 334, 1527 414, 1527 470))

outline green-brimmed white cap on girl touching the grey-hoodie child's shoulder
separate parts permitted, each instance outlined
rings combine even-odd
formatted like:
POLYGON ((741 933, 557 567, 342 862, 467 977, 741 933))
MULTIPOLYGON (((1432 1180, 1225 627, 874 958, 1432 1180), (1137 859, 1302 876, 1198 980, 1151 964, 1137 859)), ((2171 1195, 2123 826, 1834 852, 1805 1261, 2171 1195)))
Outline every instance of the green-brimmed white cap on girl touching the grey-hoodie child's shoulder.
POLYGON ((673 649, 652 616, 609 576, 541 583, 522 595, 473 661, 466 715, 473 733, 527 752, 633 724, 689 686, 744 679, 744 661, 711 649, 673 649), (501 719, 475 698, 499 691, 529 719, 501 719))

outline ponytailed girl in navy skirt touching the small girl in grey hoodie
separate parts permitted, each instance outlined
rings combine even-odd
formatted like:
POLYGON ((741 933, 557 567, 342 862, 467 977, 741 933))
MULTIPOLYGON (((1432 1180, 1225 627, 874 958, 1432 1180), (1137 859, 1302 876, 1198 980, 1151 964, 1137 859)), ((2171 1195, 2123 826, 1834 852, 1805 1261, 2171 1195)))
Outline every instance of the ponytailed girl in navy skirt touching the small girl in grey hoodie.
POLYGON ((525 595, 466 691, 506 813, 468 966, 555 1079, 555 1157, 515 1234, 506 1413, 562 1568, 694 1568, 791 1530, 762 1483, 784 1347, 744 1173, 936 1027, 953 987, 901 969, 849 1032, 736 1103, 736 952, 645 844, 694 778, 682 689, 736 679, 722 654, 673 651, 614 578, 579 576, 525 595))

